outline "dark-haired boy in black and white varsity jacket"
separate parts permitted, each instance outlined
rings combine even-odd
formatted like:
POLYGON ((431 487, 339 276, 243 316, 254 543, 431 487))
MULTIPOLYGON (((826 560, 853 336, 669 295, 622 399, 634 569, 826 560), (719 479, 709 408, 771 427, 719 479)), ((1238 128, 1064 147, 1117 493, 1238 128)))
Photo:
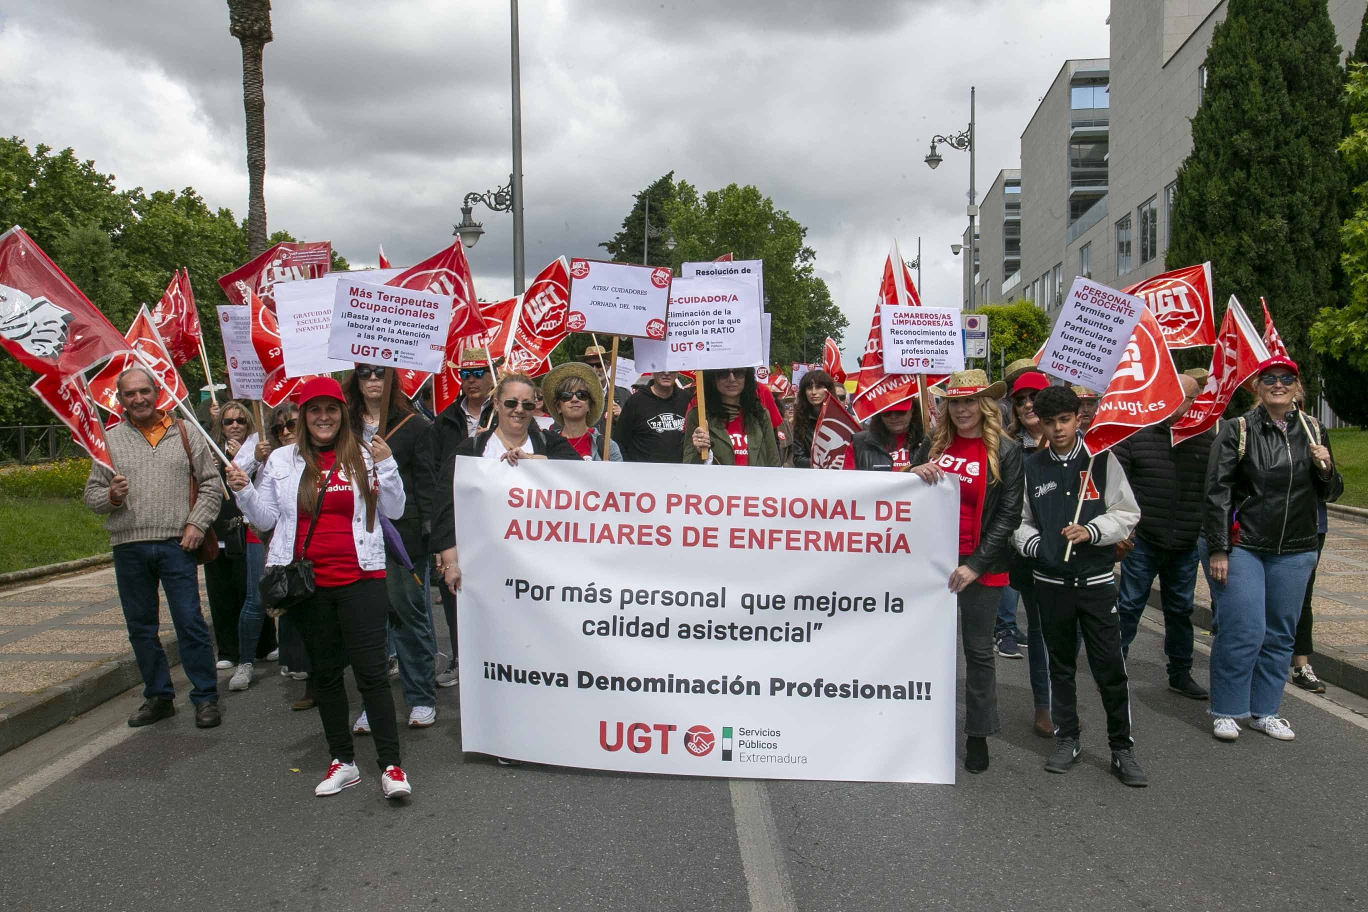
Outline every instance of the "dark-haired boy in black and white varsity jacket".
POLYGON ((1051 719, 1055 751, 1045 762, 1049 773, 1068 773, 1078 763, 1078 630, 1088 647, 1088 665, 1107 710, 1111 771, 1131 786, 1149 785, 1135 760, 1130 737, 1130 686, 1120 652, 1120 615, 1116 614, 1114 548, 1140 522, 1140 506, 1116 457, 1107 451, 1093 459, 1078 432, 1078 394, 1068 387, 1047 387, 1033 402, 1048 446, 1026 457, 1026 496, 1022 524, 1012 544, 1031 562, 1040 619, 1049 654, 1051 719), (1082 509, 1078 521, 1079 498, 1082 509), (1073 543, 1066 559, 1064 554, 1073 543))

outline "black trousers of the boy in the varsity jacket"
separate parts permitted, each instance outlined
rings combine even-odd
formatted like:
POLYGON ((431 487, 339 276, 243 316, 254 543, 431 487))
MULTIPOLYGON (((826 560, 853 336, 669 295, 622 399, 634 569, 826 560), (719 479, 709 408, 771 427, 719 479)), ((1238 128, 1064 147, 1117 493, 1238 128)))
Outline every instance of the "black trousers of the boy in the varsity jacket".
POLYGON ((1120 615, 1116 587, 1057 585, 1036 580, 1045 649, 1049 654, 1049 718, 1055 734, 1078 737, 1078 633, 1088 648, 1088 667, 1107 711, 1107 741, 1114 751, 1129 748, 1130 684, 1120 654, 1120 615))

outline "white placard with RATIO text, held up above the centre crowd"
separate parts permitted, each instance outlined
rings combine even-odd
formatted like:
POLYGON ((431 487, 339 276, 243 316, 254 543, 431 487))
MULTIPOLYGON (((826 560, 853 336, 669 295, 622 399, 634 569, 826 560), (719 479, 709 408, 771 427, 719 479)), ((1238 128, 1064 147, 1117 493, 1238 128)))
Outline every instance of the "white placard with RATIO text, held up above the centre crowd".
POLYGON ((765 313, 754 276, 676 279, 659 342, 633 345, 642 371, 718 371, 765 364, 765 313))

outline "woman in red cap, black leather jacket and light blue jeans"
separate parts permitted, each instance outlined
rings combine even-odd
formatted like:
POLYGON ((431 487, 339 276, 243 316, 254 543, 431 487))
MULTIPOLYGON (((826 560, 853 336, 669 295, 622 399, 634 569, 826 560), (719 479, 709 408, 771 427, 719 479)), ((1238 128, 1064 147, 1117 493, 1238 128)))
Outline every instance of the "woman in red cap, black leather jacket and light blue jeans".
POLYGON ((1239 737, 1237 719, 1291 741, 1295 734, 1278 708, 1316 567, 1316 507, 1338 498, 1343 481, 1324 429, 1297 409, 1297 364, 1275 356, 1254 376, 1259 405, 1222 423, 1207 461, 1202 532, 1212 599, 1220 604, 1209 711, 1222 741, 1239 737))

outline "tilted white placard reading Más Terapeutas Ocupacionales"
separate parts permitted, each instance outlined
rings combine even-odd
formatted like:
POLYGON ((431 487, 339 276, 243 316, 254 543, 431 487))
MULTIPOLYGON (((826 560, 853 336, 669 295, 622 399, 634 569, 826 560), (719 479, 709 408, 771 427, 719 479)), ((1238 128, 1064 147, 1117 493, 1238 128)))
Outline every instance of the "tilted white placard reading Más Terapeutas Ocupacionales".
POLYGON ((451 295, 338 282, 328 357, 436 373, 443 369, 451 295))

